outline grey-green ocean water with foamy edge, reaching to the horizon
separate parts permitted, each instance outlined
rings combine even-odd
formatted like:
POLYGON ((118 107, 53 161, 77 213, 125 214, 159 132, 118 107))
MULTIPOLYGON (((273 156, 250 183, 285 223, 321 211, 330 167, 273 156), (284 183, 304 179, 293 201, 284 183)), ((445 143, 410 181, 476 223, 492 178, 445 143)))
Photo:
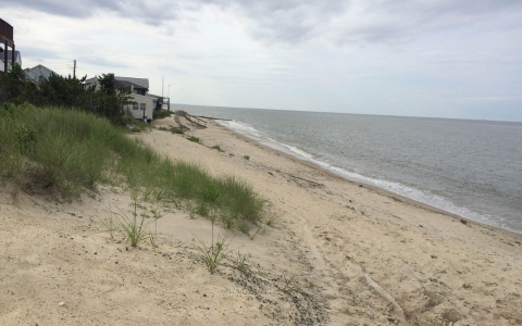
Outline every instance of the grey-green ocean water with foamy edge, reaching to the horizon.
POLYGON ((348 179, 522 233, 522 123, 172 105, 348 179))

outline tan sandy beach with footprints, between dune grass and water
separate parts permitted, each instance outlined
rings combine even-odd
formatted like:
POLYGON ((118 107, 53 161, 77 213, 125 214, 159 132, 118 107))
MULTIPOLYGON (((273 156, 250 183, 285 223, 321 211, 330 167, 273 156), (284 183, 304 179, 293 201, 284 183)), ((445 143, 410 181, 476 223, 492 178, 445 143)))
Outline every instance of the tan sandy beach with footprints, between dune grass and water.
POLYGON ((247 181, 275 226, 216 224, 233 251, 211 274, 196 248, 211 243, 212 224, 184 209, 158 208, 158 248, 132 249, 102 223, 129 209, 123 189, 67 203, 13 199, 4 185, 1 325, 522 324, 522 235, 345 180, 213 121, 183 123, 185 135, 158 129, 176 126, 170 117, 133 137, 247 181), (237 251, 247 271, 233 267, 237 251))

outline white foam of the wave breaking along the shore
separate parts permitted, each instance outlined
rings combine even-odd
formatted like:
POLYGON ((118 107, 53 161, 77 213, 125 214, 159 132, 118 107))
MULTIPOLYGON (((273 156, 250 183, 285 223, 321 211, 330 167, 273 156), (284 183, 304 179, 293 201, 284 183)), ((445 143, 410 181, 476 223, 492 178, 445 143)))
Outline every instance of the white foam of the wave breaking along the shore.
MULTIPOLYGON (((217 123, 224 127, 227 127, 234 131, 237 131, 244 136, 250 137, 253 140, 257 140, 261 142, 264 146, 268 146, 272 149, 278 150, 281 152, 290 154, 297 159, 303 160, 303 161, 309 161, 314 164, 318 164, 319 166, 330 170, 337 174, 340 177, 344 177, 348 180, 356 181, 356 183, 362 183, 371 186, 378 187, 381 189, 410 198, 412 200, 415 200, 421 203, 428 204, 431 206, 444 210, 446 212, 457 214, 459 216, 463 216, 473 221, 477 221, 481 223, 485 224, 493 224, 497 225, 507 229, 510 229, 507 227, 504 223, 504 221, 499 221, 499 217, 493 216, 493 215, 484 215, 484 214, 478 214, 476 212, 473 212, 467 208, 458 206, 450 200, 443 198, 440 196, 437 196, 435 193, 431 193, 430 191, 423 191, 419 189, 414 189, 411 187, 408 187, 406 185, 402 185, 400 183, 396 181, 388 181, 388 180, 383 180, 383 179, 374 179, 371 177, 366 177, 363 175, 360 175, 355 172, 350 172, 346 168, 343 167, 337 167, 333 166, 326 162, 316 160, 312 154, 290 145, 286 145, 283 142, 279 142, 273 138, 270 137, 264 137, 254 127, 245 124, 243 122, 237 122, 237 121, 217 121, 217 123)), ((513 230, 513 229, 511 229, 513 230)), ((517 231, 517 230, 515 230, 517 231)))

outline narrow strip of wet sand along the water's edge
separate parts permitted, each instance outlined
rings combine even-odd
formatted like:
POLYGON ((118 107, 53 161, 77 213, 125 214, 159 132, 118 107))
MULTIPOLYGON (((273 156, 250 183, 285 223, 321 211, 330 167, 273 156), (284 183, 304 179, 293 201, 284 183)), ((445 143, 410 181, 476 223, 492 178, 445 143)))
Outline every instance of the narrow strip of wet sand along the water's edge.
MULTIPOLYGON (((202 116, 203 117, 203 116, 202 116)), ((208 118, 208 121, 212 121, 214 118, 211 118, 211 117, 206 117, 208 118)), ((287 153, 283 150, 278 150, 276 148, 273 148, 271 146, 268 146, 268 145, 264 145, 262 140, 260 139, 257 139, 257 137, 254 136, 251 136, 251 135, 248 135, 248 134, 243 134, 243 133, 239 133, 233 128, 229 128, 225 125, 222 125, 220 123, 216 123, 216 126, 220 126, 228 131, 232 131, 234 133, 237 137, 239 138, 243 138, 243 139, 248 139, 250 141, 254 141, 257 142, 257 145, 263 147, 265 150, 269 150, 269 151, 273 151, 275 153, 278 153, 278 154, 282 154, 282 155, 285 155, 287 159, 289 160, 297 160, 299 161, 300 163, 302 164, 306 164, 308 166, 311 166, 311 167, 314 167, 314 168, 319 168, 330 175, 332 175, 333 177, 337 177, 337 178, 340 178, 343 180, 346 180, 352 185, 358 185, 358 186, 362 186, 366 189, 370 189, 372 191, 375 191, 376 193, 380 193, 382 196, 385 196, 385 197, 388 197, 388 198, 391 198, 394 200, 398 200, 398 201, 401 201, 401 202, 405 202, 407 204, 410 204, 410 205, 413 205, 413 206, 418 206, 418 208, 421 208, 421 209, 424 209, 424 210, 427 210, 427 211, 431 211, 431 212, 434 212, 434 213, 438 213, 438 214, 442 214, 442 215, 446 215, 447 217, 451 217, 451 218, 456 218, 456 220, 463 220, 465 221, 465 223, 471 223, 471 224, 474 224, 474 225, 480 225, 482 227, 489 227, 489 228, 493 228, 493 229, 496 229, 496 230, 499 230, 499 231, 506 231, 510 235, 513 235, 513 236, 520 236, 522 237, 522 231, 514 231, 514 230, 511 230, 511 229, 508 229, 508 228, 504 228, 501 226, 497 226, 497 225, 492 225, 492 224, 487 224, 487 223, 483 223, 483 222, 478 222, 476 220, 473 220, 473 218, 470 218, 470 217, 467 217, 467 216, 462 216, 462 215, 459 215, 459 214, 456 214, 456 213, 452 213, 452 212, 449 212, 445 209, 440 209, 440 208, 437 208, 437 206, 434 206, 432 204, 428 204, 428 203, 425 203, 425 202, 422 202, 422 201, 419 201, 419 200, 415 200, 415 199, 412 199, 412 198, 409 198, 409 197, 406 197, 403 195, 400 195, 400 193, 397 193, 397 192, 394 192, 391 190, 388 190, 388 189, 384 189, 384 188, 381 188, 378 186, 375 186, 375 185, 371 185, 364 180, 357 180, 357 179, 351 179, 349 176, 346 176, 341 173, 338 173, 338 172, 335 172, 326 166, 322 166, 320 163, 316 163, 316 162, 313 162, 307 158, 300 158, 298 153, 287 153)), ((278 142, 276 142, 276 145, 279 145, 278 142)))

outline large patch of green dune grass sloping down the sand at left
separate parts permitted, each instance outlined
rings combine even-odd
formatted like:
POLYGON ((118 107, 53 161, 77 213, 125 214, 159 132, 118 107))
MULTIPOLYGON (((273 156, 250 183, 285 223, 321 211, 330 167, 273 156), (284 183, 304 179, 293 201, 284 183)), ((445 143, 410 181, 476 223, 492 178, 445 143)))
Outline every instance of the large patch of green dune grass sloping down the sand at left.
POLYGON ((185 201, 203 216, 215 212, 243 231, 261 222, 265 202, 249 185, 173 162, 127 133, 79 111, 0 106, 0 178, 11 180, 15 191, 69 201, 99 184, 116 184, 139 193, 139 200, 185 201))

